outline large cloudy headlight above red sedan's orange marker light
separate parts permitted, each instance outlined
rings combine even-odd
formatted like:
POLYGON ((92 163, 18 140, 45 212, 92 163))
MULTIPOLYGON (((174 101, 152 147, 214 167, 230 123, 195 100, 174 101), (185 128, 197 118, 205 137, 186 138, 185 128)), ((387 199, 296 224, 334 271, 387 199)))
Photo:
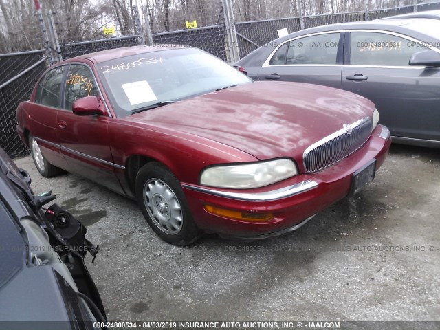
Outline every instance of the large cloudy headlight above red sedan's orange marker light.
POLYGON ((297 174, 298 170, 291 159, 275 159, 206 168, 201 173, 200 184, 218 188, 259 188, 297 174))

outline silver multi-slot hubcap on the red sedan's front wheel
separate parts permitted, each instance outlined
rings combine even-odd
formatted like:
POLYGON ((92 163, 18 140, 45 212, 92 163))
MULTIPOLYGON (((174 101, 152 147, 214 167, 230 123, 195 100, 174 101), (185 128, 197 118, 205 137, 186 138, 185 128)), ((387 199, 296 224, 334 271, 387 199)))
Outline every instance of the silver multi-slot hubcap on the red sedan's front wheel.
POLYGON ((184 216, 177 196, 162 180, 149 179, 144 185, 144 203, 157 228, 166 234, 178 234, 184 216))

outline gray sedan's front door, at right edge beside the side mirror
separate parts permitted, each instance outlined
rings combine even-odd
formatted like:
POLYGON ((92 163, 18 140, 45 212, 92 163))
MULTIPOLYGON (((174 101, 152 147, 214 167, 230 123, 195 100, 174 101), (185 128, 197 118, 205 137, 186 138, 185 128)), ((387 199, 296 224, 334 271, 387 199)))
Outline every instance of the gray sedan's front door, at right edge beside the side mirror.
POLYGON ((369 98, 396 137, 440 140, 440 69, 410 66, 423 43, 384 31, 352 31, 342 89, 369 98))

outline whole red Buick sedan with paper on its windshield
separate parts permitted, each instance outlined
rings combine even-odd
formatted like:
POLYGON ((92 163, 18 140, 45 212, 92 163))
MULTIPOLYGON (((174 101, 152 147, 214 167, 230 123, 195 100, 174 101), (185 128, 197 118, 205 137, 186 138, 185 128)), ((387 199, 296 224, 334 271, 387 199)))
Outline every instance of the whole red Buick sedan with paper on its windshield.
POLYGON ((127 47, 47 69, 17 109, 44 177, 60 168, 137 199, 175 245, 299 228, 374 178, 391 144, 369 100, 254 82, 192 47, 127 47))

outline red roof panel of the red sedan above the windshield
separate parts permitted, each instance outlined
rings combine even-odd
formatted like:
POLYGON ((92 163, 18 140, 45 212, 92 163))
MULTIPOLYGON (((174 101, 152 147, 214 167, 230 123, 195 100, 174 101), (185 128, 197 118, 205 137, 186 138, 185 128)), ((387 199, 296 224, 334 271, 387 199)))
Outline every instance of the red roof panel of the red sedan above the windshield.
POLYGON ((158 52, 161 50, 175 50, 181 48, 189 48, 189 47, 183 45, 153 45, 153 46, 140 45, 140 46, 114 48, 112 50, 102 50, 100 52, 94 52, 94 53, 89 53, 89 54, 84 54, 73 58, 69 58, 68 60, 63 61, 62 63, 74 62, 74 61, 78 61, 79 59, 87 59, 89 61, 92 61, 93 63, 101 63, 125 56, 131 56, 136 54, 147 54, 147 53, 158 52))

